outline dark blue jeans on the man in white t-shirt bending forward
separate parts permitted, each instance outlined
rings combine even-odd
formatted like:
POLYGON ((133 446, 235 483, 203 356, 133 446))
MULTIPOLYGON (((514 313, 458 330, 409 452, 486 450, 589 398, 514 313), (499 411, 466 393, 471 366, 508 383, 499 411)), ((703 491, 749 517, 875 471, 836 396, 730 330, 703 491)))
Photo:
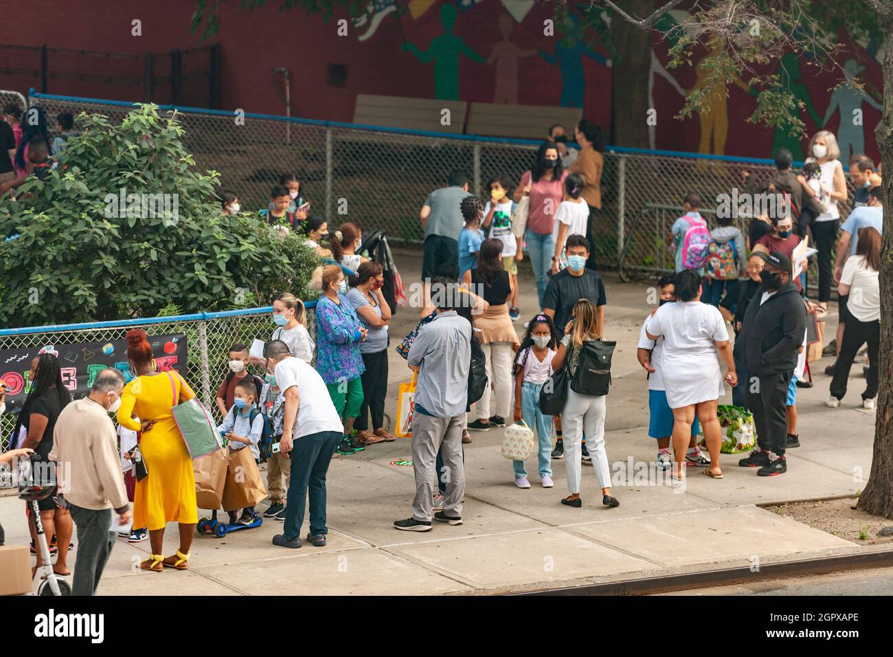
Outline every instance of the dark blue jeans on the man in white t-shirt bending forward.
POLYGON ((304 524, 304 505, 310 493, 310 533, 328 534, 326 527, 326 473, 338 442, 344 435, 340 431, 321 431, 317 434, 295 438, 292 443, 291 475, 288 477, 288 495, 285 524, 282 535, 286 541, 301 536, 304 524))

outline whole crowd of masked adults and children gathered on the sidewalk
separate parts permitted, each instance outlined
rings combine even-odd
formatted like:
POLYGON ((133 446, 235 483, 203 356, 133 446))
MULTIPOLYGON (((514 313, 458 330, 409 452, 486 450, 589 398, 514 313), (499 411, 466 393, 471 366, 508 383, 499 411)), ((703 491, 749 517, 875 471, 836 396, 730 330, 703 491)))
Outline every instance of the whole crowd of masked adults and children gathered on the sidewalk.
MULTIPOLYGON (((51 147, 46 130, 16 124, 16 132, 14 110, 4 108, 10 135, 0 130, 8 150, 15 144, 10 172, 3 171, 0 153, 0 176, 5 175, 3 185, 8 187, 34 173, 40 165, 34 158, 39 160, 43 144, 47 152, 58 152, 73 134, 71 116, 60 114, 57 140, 62 141, 51 147)), ((593 356, 610 354, 613 348, 605 341, 607 298, 594 242, 603 221, 601 131, 580 121, 574 130, 579 150, 567 147, 561 126, 548 134, 516 185, 498 173, 488 180, 488 198, 477 198, 469 191, 471 176, 457 170, 422 203, 424 303, 418 325, 394 345, 415 373, 416 385, 415 496, 412 515, 396 520, 396 529, 430 531, 432 520, 461 525, 463 444, 472 441, 472 431, 510 421, 530 428, 544 488, 555 485, 553 461, 564 459, 563 505, 583 505, 584 462, 593 466, 602 504, 620 504, 611 487, 605 443, 610 355, 601 369, 593 356), (524 257, 530 259, 538 301, 538 311, 529 319, 521 316, 518 302, 518 263, 524 257), (522 321, 519 337, 514 323, 522 321), (548 413, 546 396, 557 400, 548 413)), ((674 480, 685 479, 690 467, 701 467, 714 479, 723 477, 718 407, 726 385, 732 389, 732 403, 750 411, 755 422, 757 446, 739 465, 758 467, 760 476, 786 472, 785 452, 799 446, 797 386, 812 384, 805 358, 807 314, 827 312, 832 281, 840 295, 841 328, 826 403, 839 406, 850 366, 867 343, 863 405, 874 406, 880 171, 864 156, 850 164, 856 208, 842 227, 835 261, 838 203, 847 201, 847 186, 833 134, 817 133, 811 153, 799 175, 793 173, 786 149, 776 154, 778 172, 769 180, 745 174, 747 189, 783 191, 789 199, 785 212, 755 217, 747 232, 725 216, 711 228, 699 212, 698 194, 682 198, 683 212, 672 224, 670 238, 675 273, 656 282, 659 303, 641 325, 637 351, 648 373, 648 434, 656 440, 655 464, 674 480), (807 233, 819 260, 816 300, 805 296, 806 262, 800 247, 807 233), (701 434, 705 451, 697 442, 701 434)), ((219 198, 224 215, 242 211, 235 192, 221 190, 219 198)), ((263 357, 252 356, 244 343, 230 346, 229 372, 215 394, 223 418, 217 430, 230 452, 247 449, 242 454, 267 464, 269 505, 263 517, 283 523, 273 543, 301 546, 309 497, 305 540, 324 545, 330 459, 395 440, 386 428, 384 409, 389 325, 396 308, 383 291, 382 264, 364 255, 368 251, 360 226, 342 223, 330 231, 325 220, 311 213, 299 175, 282 175, 259 215, 276 230, 299 233, 321 258, 310 282, 320 291, 315 340, 307 330, 304 302, 291 293, 280 294, 272 303, 275 328, 263 357), (253 365, 260 366, 261 374, 251 373, 253 365)), ((129 541, 150 543, 141 569, 188 569, 196 533, 193 461, 171 410, 195 393, 178 374, 160 371, 144 331, 130 330, 126 338, 129 381, 110 368, 96 376, 81 400, 71 400, 53 354, 35 358, 13 431, 18 451, 5 455, 35 451, 49 460, 80 462, 67 482, 71 493, 48 495, 39 506, 46 534, 53 536, 54 569, 60 575, 69 574, 67 552, 77 527, 74 577, 80 594, 92 594, 102 575, 113 544, 113 535, 108 535, 113 512, 129 541), (117 430, 109 413, 115 414, 117 430), (125 448, 127 432, 134 438, 125 448), (138 455, 142 476, 121 476, 119 449, 128 465, 138 455), (85 461, 95 464, 86 467, 85 461), (164 529, 171 522, 178 523, 179 546, 164 556, 164 529)), ((525 461, 513 460, 512 477, 518 488, 531 487, 525 461)), ((251 526, 261 515, 254 506, 227 511, 231 525, 251 526)), ((33 522, 30 526, 33 538, 33 522)))

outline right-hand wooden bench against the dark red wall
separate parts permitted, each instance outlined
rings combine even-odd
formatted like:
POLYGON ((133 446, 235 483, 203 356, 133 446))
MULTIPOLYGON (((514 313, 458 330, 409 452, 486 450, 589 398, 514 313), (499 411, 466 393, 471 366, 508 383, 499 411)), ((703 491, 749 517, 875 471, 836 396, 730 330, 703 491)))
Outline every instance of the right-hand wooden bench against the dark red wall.
POLYGON ((549 126, 560 123, 568 141, 573 141, 573 129, 582 115, 583 110, 579 107, 472 103, 465 132, 488 137, 546 139, 549 126))

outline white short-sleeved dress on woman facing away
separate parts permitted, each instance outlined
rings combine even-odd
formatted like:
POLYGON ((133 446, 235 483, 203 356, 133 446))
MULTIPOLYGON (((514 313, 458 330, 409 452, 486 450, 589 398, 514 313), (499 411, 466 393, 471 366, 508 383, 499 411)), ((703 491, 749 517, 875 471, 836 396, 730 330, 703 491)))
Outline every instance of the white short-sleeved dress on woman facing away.
POLYGON ((725 394, 714 341, 728 341, 729 332, 718 308, 700 301, 663 304, 648 321, 647 332, 663 335, 660 369, 671 409, 725 394))

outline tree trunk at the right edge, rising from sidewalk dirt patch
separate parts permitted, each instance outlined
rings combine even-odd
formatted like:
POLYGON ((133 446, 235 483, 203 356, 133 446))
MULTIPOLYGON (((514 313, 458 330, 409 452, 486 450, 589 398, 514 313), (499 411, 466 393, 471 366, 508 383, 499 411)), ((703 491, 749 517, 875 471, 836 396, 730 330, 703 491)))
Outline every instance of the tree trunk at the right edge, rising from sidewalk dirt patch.
POLYGON ((893 518, 893 7, 880 16, 884 34, 883 115, 874 131, 883 163, 884 231, 880 248, 880 392, 872 473, 858 508, 893 518))

